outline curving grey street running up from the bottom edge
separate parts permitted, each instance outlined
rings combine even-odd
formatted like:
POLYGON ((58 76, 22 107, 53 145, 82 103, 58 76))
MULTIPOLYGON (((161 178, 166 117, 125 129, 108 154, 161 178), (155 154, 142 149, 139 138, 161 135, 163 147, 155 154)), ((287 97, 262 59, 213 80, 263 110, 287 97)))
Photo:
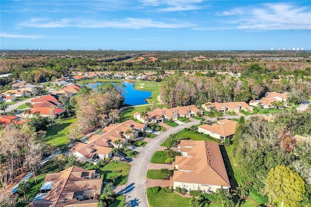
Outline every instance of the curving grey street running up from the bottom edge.
POLYGON ((146 144, 140 151, 136 159, 133 161, 130 172, 127 178, 126 189, 126 203, 130 204, 131 207, 148 207, 147 195, 146 195, 146 175, 149 162, 151 157, 155 153, 155 150, 164 142, 170 134, 177 133, 185 127, 191 127, 197 125, 200 120, 185 123, 164 131, 163 133, 156 136, 152 141, 146 144))

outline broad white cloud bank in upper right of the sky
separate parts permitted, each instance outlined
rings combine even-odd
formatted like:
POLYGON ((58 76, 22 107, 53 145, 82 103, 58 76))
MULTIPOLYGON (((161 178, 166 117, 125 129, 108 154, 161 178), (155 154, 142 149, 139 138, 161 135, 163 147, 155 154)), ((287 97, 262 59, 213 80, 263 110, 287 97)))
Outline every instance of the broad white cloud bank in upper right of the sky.
POLYGON ((224 16, 225 26, 194 28, 196 30, 311 30, 311 8, 293 3, 266 3, 217 12, 224 16))

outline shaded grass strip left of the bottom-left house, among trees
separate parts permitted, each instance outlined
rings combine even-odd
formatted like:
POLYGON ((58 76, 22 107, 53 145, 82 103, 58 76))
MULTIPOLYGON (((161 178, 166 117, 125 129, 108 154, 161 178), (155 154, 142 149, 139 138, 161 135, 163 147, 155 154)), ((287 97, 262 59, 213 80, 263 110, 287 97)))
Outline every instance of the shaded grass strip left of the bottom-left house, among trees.
MULTIPOLYGON (((28 200, 34 199, 35 194, 39 193, 39 189, 41 188, 44 182, 45 175, 47 175, 48 173, 55 173, 55 172, 59 172, 58 164, 53 164, 53 161, 50 160, 42 166, 40 175, 36 175, 36 179, 37 179, 36 184, 35 184, 35 178, 32 177, 28 180, 28 182, 30 182, 31 184, 30 190, 26 192, 26 197, 28 198, 28 200)), ((23 197, 23 194, 20 196, 20 198, 22 197, 23 197)), ((25 206, 28 206, 28 204, 21 204, 21 203, 17 204, 17 207, 25 207, 25 206)))

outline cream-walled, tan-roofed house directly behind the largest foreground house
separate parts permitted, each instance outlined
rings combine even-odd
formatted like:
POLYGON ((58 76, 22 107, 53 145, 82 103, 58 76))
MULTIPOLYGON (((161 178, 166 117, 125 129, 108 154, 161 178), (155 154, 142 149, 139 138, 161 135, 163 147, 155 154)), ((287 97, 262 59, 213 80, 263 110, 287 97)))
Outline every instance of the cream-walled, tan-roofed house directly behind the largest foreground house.
POLYGON ((222 119, 217 121, 217 124, 201 125, 198 127, 198 132, 203 132, 211 137, 224 141, 225 138, 232 139, 235 133, 235 128, 238 122, 228 119, 222 119))

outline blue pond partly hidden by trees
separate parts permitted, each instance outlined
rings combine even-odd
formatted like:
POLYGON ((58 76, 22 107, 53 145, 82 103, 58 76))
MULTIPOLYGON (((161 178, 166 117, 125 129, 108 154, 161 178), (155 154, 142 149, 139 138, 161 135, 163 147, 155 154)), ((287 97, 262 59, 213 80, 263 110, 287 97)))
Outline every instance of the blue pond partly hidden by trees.
MULTIPOLYGON (((112 82, 114 83, 114 82, 112 82)), ((150 91, 138 91, 134 88, 135 82, 121 82, 125 88, 123 96, 125 97, 124 103, 132 106, 141 105, 148 103, 145 99, 151 96, 150 91)), ((98 83, 87 83, 86 86, 96 89, 98 85, 101 85, 101 82, 98 83)))

